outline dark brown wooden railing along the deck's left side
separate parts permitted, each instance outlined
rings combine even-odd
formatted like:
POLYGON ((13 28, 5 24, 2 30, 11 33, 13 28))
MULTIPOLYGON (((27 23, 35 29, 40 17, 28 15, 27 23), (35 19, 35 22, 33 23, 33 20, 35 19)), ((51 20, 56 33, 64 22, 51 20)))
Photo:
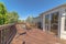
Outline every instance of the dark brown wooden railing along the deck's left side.
POLYGON ((0 25, 0 44, 10 44, 15 33, 15 24, 0 25))

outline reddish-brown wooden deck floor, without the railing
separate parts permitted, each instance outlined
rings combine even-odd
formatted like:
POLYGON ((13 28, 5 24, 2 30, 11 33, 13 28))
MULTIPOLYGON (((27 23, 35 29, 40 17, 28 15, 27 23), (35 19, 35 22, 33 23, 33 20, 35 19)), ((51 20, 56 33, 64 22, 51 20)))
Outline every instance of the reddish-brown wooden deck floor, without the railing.
POLYGON ((41 31, 38 29, 33 29, 26 31, 18 25, 18 33, 12 40, 11 44, 61 44, 59 38, 55 35, 41 31))

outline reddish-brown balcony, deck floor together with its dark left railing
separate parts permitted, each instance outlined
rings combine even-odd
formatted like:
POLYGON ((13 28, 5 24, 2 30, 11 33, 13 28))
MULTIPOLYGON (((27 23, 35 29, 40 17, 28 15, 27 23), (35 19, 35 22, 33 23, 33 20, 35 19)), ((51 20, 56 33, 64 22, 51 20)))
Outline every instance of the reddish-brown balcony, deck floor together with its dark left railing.
POLYGON ((23 24, 0 25, 0 44, 56 44, 59 38, 38 29, 26 30, 23 24))

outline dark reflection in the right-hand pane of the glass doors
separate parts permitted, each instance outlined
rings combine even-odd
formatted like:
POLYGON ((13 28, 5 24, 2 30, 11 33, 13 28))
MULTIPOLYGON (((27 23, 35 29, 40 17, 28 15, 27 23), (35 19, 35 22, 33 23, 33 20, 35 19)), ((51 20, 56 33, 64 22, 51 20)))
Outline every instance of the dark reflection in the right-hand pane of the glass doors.
POLYGON ((58 12, 52 13, 51 15, 51 31, 57 34, 58 31, 58 12))

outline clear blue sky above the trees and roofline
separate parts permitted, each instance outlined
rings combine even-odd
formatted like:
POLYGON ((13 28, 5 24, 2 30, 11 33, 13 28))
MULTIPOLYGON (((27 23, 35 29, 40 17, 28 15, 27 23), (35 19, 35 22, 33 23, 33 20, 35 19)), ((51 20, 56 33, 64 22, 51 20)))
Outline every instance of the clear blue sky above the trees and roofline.
POLYGON ((40 13, 66 3, 66 0, 0 0, 8 11, 16 11, 20 20, 38 16, 40 13))

